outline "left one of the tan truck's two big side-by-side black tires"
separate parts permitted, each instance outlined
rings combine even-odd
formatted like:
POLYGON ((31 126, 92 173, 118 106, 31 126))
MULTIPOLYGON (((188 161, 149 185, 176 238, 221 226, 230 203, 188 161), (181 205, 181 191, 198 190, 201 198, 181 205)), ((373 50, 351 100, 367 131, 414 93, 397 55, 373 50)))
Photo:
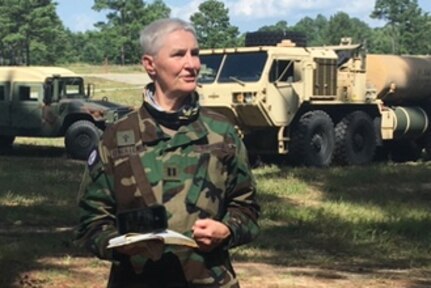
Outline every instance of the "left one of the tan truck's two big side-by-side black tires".
POLYGON ((302 115, 293 126, 290 153, 294 163, 325 167, 332 161, 335 146, 334 123, 321 110, 302 115))

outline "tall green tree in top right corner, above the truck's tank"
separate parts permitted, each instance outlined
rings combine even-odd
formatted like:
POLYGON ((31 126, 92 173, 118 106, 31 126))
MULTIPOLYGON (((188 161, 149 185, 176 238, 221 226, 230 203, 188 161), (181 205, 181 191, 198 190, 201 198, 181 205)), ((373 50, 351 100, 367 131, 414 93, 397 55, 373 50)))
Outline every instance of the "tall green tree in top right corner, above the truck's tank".
POLYGON ((417 0, 376 0, 371 18, 385 20, 390 33, 392 53, 429 54, 430 16, 419 7, 417 0))

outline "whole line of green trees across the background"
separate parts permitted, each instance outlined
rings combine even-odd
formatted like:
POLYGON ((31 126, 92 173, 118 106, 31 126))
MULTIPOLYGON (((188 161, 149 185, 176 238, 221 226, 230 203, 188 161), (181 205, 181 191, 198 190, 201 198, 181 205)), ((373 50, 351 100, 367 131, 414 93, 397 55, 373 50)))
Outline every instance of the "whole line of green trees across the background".
MULTIPOLYGON (((53 0, 0 0, 0 65, 136 64, 140 60, 139 31, 169 17, 163 0, 94 0, 106 20, 95 29, 72 32, 64 26, 53 0)), ((417 0, 376 0, 371 18, 385 23, 372 28, 338 12, 304 17, 294 25, 279 21, 258 31, 300 32, 309 46, 336 45, 342 37, 366 43, 371 53, 431 54, 431 16, 417 0)), ((191 15, 201 48, 243 46, 245 34, 230 23, 224 3, 206 0, 191 15)))

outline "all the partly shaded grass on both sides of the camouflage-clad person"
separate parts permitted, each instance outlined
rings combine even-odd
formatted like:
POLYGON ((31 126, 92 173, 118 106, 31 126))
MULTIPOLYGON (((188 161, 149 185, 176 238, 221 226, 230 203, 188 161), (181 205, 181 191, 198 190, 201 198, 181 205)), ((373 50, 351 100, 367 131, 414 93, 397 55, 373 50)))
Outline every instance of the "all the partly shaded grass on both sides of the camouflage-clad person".
MULTIPOLYGON (((72 242, 83 168, 44 144, 16 145, 0 157, 0 265, 8 267, 0 287, 90 287, 96 273, 105 281, 107 263, 72 242)), ((403 276, 413 284, 418 275, 431 277, 430 170, 430 163, 255 169, 262 232, 232 251, 234 262, 350 273, 404 269, 415 271, 403 276)), ((298 276, 283 277, 294 283, 298 276)))

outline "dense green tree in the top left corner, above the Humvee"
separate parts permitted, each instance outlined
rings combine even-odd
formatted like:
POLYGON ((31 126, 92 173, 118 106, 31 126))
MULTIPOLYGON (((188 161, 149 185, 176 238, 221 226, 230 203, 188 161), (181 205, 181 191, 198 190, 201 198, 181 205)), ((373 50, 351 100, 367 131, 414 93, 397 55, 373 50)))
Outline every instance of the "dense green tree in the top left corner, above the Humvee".
POLYGON ((65 29, 51 0, 3 0, 0 37, 3 64, 52 64, 63 58, 65 29))

